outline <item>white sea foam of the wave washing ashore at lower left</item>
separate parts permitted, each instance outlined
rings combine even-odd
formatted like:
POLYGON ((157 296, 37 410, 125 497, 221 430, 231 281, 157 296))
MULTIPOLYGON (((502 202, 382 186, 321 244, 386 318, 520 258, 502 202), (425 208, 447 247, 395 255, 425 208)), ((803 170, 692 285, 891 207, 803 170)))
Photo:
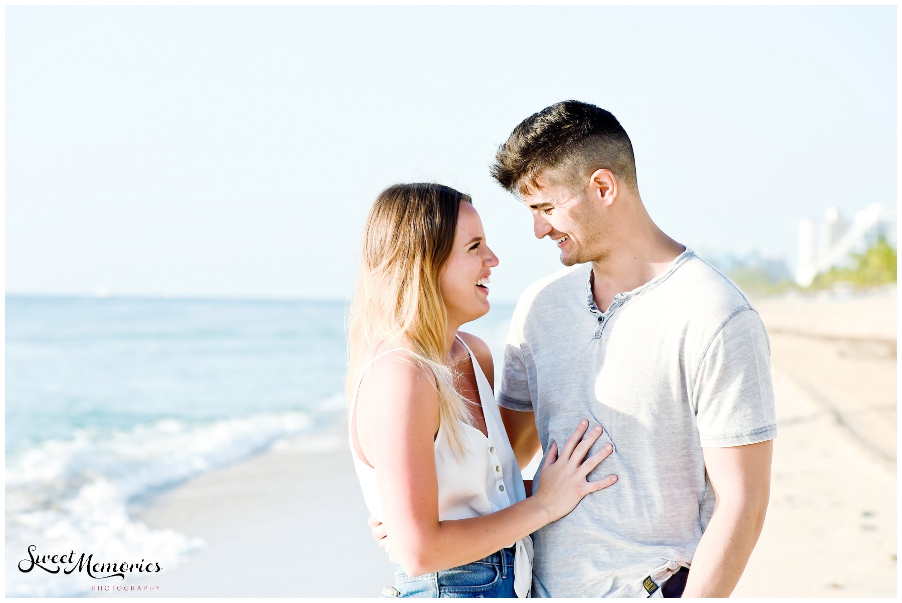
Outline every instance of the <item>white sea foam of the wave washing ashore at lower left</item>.
MULTIPOLYGON (((94 562, 143 559, 171 570, 204 542, 145 525, 129 516, 129 503, 273 443, 281 446, 299 434, 319 434, 324 417, 336 412, 334 398, 311 413, 266 413, 206 424, 166 419, 112 433, 81 429, 68 440, 48 440, 15 455, 6 468, 7 562, 27 561, 27 548, 34 544, 37 554, 74 551, 77 560, 90 553, 94 562)), ((6 596, 79 596, 92 585, 127 584, 138 575, 148 574, 97 580, 82 571, 65 575, 34 568, 23 573, 10 567, 6 596)))

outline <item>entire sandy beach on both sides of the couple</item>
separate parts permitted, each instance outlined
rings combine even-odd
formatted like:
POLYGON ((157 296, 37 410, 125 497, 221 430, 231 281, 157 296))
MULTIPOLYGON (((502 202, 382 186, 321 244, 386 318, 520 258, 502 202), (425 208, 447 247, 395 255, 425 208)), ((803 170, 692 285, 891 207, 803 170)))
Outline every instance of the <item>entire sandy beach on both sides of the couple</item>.
MULTIPOLYGON (((895 290, 757 306, 778 439, 764 532, 734 596, 895 597, 895 290)), ((392 567, 344 438, 277 446, 152 499, 143 521, 207 547, 143 582, 161 587, 147 596, 375 597, 392 567)))

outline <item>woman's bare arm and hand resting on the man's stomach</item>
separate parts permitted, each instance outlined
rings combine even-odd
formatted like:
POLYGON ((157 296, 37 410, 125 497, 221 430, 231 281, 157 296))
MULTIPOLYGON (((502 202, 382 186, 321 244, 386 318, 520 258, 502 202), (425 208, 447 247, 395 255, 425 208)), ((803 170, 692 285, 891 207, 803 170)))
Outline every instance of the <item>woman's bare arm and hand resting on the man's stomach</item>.
POLYGON ((357 425, 366 459, 376 469, 391 551, 410 575, 482 559, 565 516, 586 494, 616 480, 585 480, 609 451, 583 462, 601 434, 593 429, 583 440, 588 429, 584 422, 567 440, 560 459, 557 444, 552 446, 539 491, 532 497, 491 515, 438 521, 435 379, 392 356, 382 357, 367 371, 358 395, 357 425))

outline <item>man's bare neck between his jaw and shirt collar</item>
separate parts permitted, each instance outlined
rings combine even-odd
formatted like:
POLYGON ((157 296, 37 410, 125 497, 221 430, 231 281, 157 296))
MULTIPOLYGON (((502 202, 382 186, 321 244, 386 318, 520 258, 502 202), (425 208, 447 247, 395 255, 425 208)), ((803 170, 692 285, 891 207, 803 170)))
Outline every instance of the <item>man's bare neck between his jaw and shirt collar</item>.
POLYGON ((592 262, 592 295, 602 312, 611 306, 615 295, 655 279, 686 251, 655 224, 650 226, 645 236, 627 237, 613 245, 609 255, 592 262))

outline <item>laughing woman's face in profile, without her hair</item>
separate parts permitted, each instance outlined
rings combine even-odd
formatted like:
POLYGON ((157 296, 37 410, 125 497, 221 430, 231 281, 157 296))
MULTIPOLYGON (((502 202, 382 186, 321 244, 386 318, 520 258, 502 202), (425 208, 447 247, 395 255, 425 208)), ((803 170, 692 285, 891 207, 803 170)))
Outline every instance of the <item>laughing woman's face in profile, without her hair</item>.
POLYGON ((449 323, 465 324, 489 311, 489 288, 485 283, 497 265, 498 258, 485 244, 479 214, 474 206, 461 201, 454 248, 438 275, 449 323))

